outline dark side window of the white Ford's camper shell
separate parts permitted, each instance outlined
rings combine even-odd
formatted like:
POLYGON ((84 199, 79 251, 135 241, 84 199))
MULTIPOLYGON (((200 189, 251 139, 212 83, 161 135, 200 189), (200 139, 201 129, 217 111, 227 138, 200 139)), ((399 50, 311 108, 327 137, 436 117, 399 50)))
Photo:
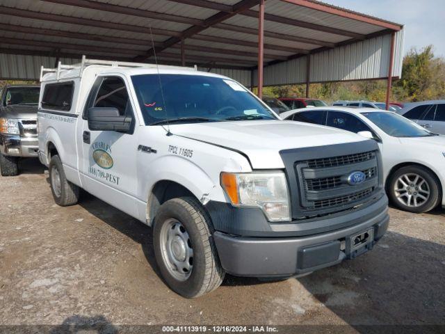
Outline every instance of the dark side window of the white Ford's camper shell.
POLYGON ((70 111, 72 95, 74 93, 74 82, 62 82, 44 86, 42 97, 42 108, 70 111))

